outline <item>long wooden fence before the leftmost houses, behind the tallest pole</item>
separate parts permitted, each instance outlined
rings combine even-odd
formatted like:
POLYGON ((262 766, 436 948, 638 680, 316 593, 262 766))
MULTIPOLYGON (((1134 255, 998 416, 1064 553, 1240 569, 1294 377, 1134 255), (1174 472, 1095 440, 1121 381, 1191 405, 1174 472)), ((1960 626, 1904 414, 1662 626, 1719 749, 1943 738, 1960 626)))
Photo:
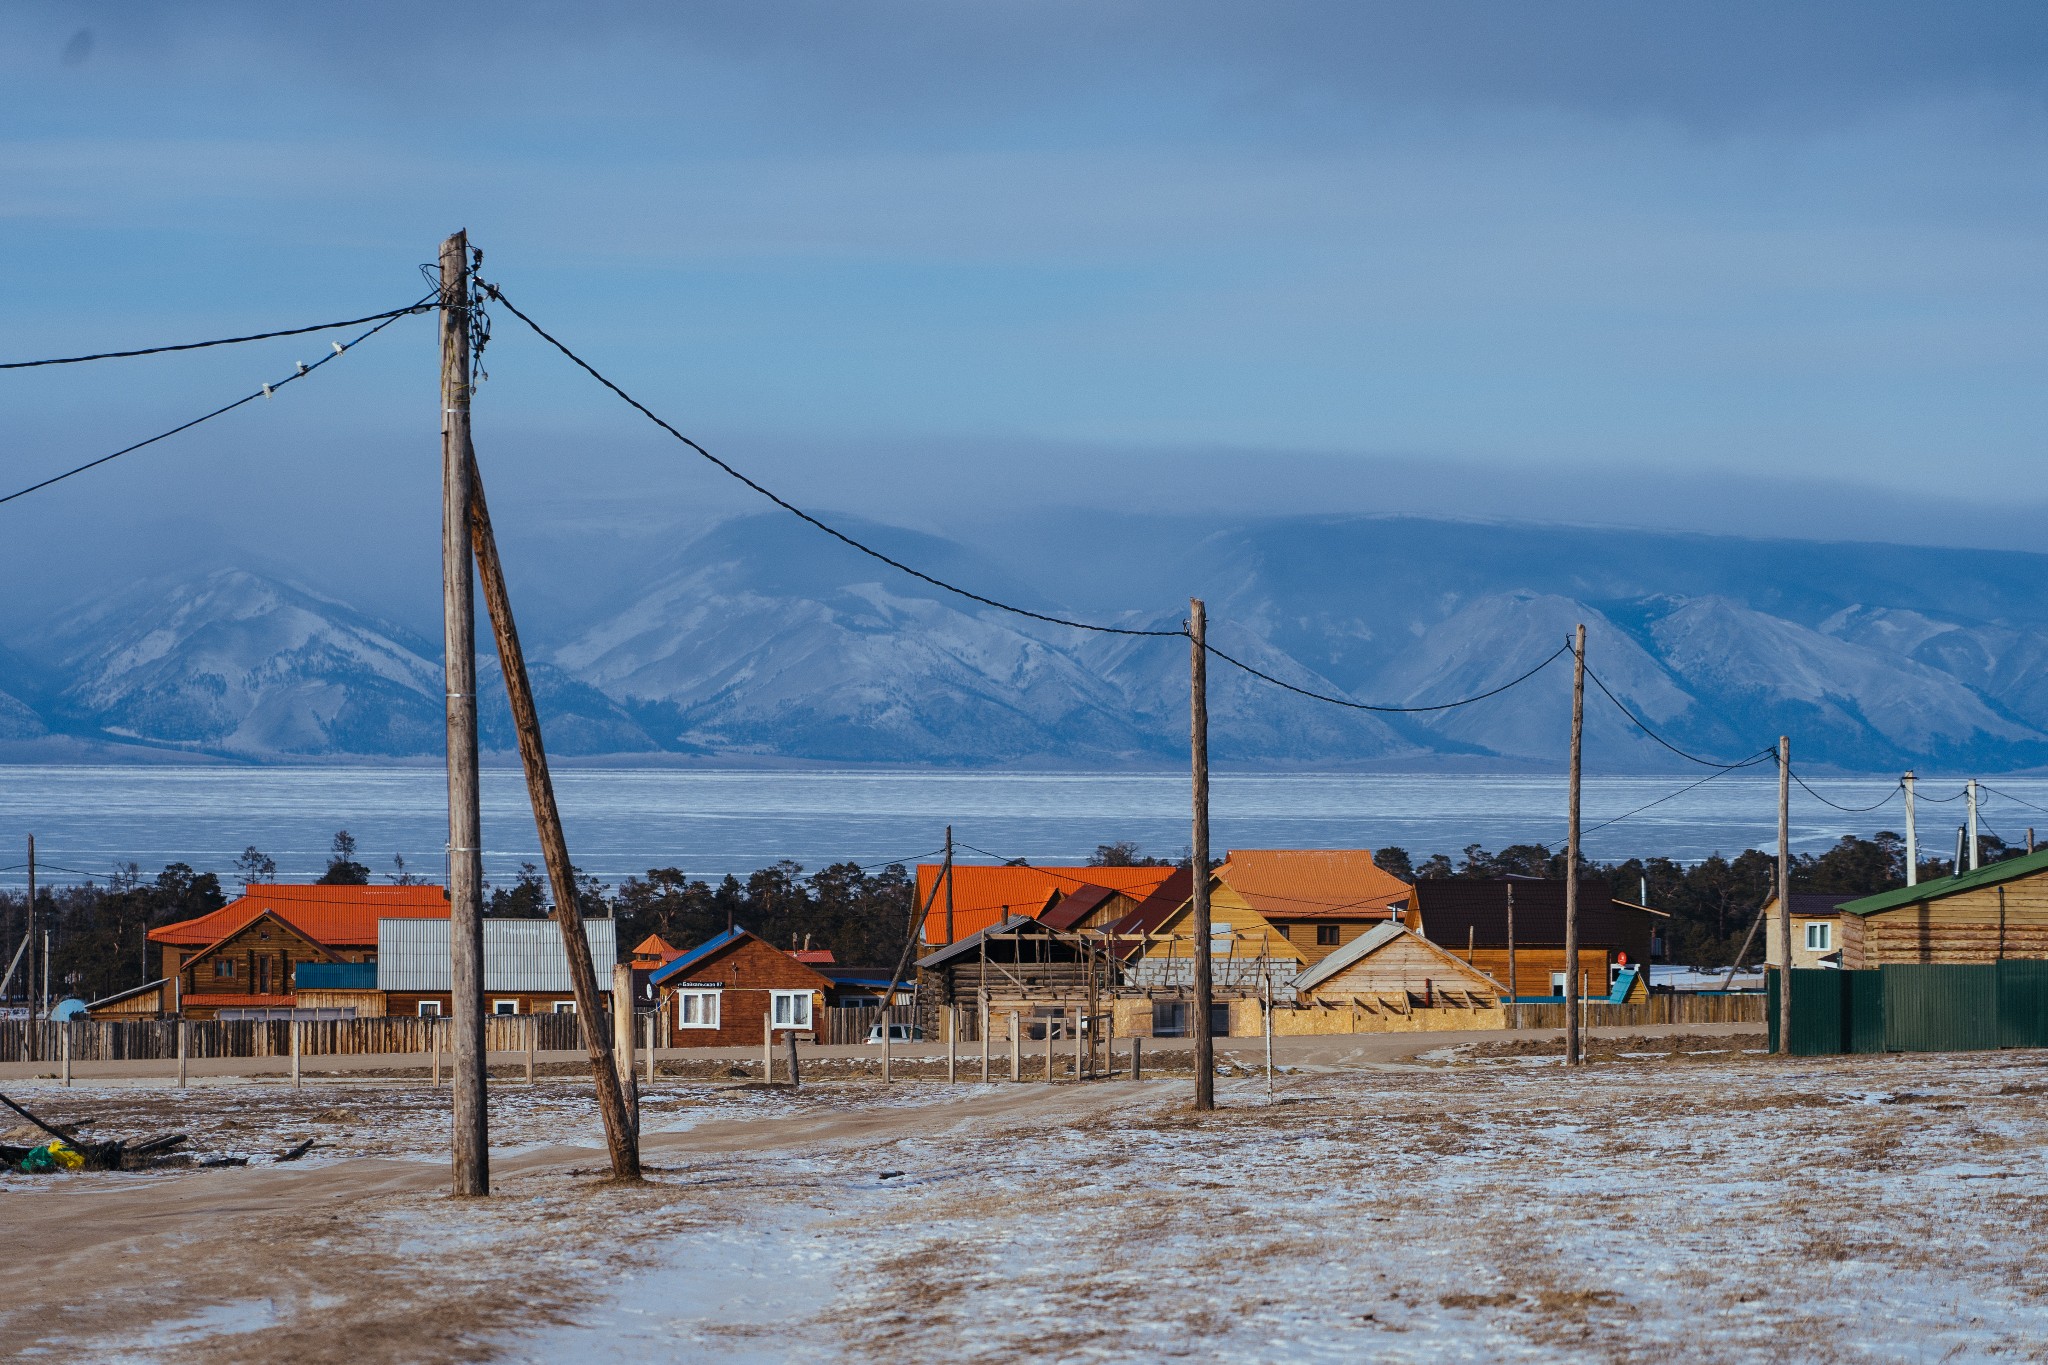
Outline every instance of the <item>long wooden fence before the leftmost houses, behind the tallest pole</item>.
MULTIPOLYGON (((424 1054, 453 1048, 449 1019, 397 1015, 387 1019, 190 1019, 188 1058, 291 1056, 299 1029, 301 1056, 424 1054)), ((66 1040, 74 1062, 168 1062, 178 1056, 176 1019, 84 1019, 74 1023, 0 1023, 0 1062, 55 1062, 66 1040), (35 1050, 31 1050, 35 1029, 35 1050)), ((483 1046, 492 1052, 575 1052, 584 1033, 575 1015, 485 1015, 483 1046)))

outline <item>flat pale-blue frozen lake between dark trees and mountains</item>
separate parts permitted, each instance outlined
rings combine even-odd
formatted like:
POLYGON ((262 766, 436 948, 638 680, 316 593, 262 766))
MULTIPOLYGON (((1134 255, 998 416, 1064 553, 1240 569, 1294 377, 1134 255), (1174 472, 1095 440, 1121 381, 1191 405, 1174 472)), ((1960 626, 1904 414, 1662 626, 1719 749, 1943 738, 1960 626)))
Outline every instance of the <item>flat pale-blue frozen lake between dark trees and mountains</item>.
MULTIPOLYGON (((1098 843, 1137 841, 1149 853, 1188 845, 1188 786, 1178 774, 991 774, 991 772, 674 772, 567 767, 555 774, 575 862, 604 882, 676 866, 690 876, 745 874, 780 857, 805 868, 854 860, 915 862, 954 827, 961 857, 1083 860, 1098 843), (971 845, 971 847, 969 847, 971 845), (975 849, 985 849, 979 853, 975 849)), ((1704 857, 1774 847, 1776 780, 1716 778, 1671 796, 1688 778, 1597 776, 1585 782, 1587 853, 1704 857), (1663 796, 1640 814, 1604 829, 1663 796)), ((1886 796, 1884 778, 1810 780, 1843 806, 1886 796)), ((1921 843, 1954 847, 1960 778, 1923 776, 1921 843)), ((2048 780, 1997 778, 1985 794, 1985 825, 2011 843, 2030 823, 2048 829, 2048 780)), ((117 860, 145 872, 188 862, 229 872, 246 845, 270 853, 285 880, 317 876, 336 829, 358 841, 379 876, 403 853, 418 874, 442 874, 446 843, 442 774, 432 767, 0 767, 0 855, 20 862, 37 835, 45 878, 106 876, 117 860), (68 868, 72 872, 57 872, 68 868)), ((1894 798, 1880 810, 1831 810, 1792 788, 1796 849, 1821 849, 1843 833, 1903 829, 1894 798)), ((510 878, 539 862, 539 841, 516 769, 483 774, 485 874, 510 878)), ((1417 857, 1456 855, 1468 843, 1565 839, 1563 776, 1470 774, 1233 774, 1212 790, 1212 847, 1384 847, 1417 857)), ((0 884, 18 886, 18 868, 0 884)))

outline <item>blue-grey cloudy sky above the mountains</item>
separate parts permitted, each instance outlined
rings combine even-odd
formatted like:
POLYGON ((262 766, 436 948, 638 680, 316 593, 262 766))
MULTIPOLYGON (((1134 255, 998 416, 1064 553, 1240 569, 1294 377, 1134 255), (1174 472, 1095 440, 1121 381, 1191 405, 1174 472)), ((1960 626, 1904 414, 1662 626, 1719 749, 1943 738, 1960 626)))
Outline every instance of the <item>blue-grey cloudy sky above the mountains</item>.
MULTIPOLYGON (((16 4, 0 49, 0 358, 391 307, 467 227, 686 430, 926 528, 1112 499, 2048 548, 2038 0, 16 4)), ((317 348, 0 372, 8 481, 317 348)), ((510 317, 487 368, 506 505, 739 505, 510 317)), ((0 536, 47 571, 430 557, 434 405, 410 319, 0 536)))

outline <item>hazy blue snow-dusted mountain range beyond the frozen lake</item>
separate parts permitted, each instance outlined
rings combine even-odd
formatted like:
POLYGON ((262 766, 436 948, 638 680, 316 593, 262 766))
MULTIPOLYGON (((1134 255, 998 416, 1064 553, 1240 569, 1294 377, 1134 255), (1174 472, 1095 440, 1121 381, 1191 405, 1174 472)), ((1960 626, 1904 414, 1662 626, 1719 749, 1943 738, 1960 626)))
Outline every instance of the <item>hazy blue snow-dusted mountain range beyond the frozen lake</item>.
MULTIPOLYGON (((1790 733, 1815 767, 2048 763, 2040 555, 1423 518, 1065 518, 975 546, 858 532, 975 591, 1108 624, 1174 628, 1200 593, 1217 647, 1309 692, 1391 706, 1487 692, 1583 620, 1599 681, 1694 751, 1739 759, 1790 733)), ((563 757, 1116 765, 1178 761, 1186 745, 1184 641, 997 612, 782 516, 715 526, 604 604, 522 622, 563 757)), ((256 761, 440 749, 438 641, 250 571, 139 583, 8 647, 12 751, 57 739, 113 757, 256 761)), ((1368 712, 1212 661, 1212 751, 1272 765, 1552 763, 1569 686, 1559 661, 1473 706, 1368 712)), ((483 743, 512 743, 492 659, 483 743)), ((1679 763, 1597 688, 1587 745, 1606 772, 1679 763)))

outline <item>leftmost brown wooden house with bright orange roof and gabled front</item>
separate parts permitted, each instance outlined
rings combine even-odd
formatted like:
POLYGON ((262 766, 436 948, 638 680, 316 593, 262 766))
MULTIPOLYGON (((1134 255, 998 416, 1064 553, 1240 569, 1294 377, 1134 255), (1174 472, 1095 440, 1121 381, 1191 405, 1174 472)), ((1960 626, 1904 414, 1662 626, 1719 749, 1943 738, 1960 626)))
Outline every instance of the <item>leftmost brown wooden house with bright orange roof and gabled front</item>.
POLYGON ((446 919, 440 886, 252 884, 221 909, 160 925, 150 943, 164 978, 154 997, 109 1001, 113 1013, 213 1019, 221 1011, 291 1011, 303 964, 377 960, 379 919, 446 919))

